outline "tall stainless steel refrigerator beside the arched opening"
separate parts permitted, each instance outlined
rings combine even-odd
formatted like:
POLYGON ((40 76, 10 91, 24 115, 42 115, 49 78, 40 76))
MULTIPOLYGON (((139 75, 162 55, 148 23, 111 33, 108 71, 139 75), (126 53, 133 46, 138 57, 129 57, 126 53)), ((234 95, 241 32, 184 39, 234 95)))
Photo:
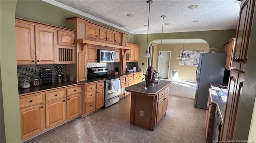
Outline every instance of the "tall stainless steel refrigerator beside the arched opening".
POLYGON ((200 53, 194 107, 206 109, 210 82, 223 82, 225 63, 226 53, 200 53))

